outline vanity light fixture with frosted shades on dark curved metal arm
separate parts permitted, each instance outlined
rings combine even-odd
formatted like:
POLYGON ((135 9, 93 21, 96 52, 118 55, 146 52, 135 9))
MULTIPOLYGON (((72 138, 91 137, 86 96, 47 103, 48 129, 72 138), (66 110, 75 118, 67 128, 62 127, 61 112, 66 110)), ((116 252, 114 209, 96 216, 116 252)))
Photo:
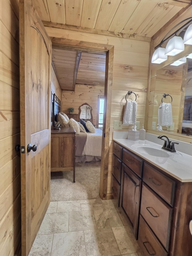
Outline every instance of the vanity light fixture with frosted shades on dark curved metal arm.
POLYGON ((184 42, 185 44, 192 45, 192 17, 182 20, 165 35, 161 43, 155 47, 155 52, 153 53, 152 56, 152 63, 160 64, 167 60, 166 56, 175 56, 183 52, 184 42), (184 23, 184 25, 182 25, 179 29, 175 31, 176 27, 178 27, 182 23, 184 23), (179 33, 181 33, 186 28, 187 30, 185 32, 183 40, 182 37, 179 36, 179 33), (170 35, 172 31, 174 32, 170 35), (167 43, 166 48, 162 48, 162 45, 165 43, 167 43))

